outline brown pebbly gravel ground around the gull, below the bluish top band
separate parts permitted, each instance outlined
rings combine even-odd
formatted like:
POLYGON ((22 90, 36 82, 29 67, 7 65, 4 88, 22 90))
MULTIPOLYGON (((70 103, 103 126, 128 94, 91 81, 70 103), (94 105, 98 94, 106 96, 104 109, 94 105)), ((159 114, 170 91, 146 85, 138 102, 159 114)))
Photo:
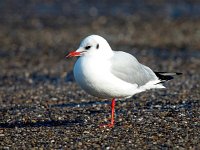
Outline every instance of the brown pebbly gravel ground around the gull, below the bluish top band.
POLYGON ((1 17, 0 149, 200 149, 198 19, 19 16, 1 17), (92 33, 155 71, 183 75, 117 101, 115 127, 99 128, 111 100, 85 93, 75 59, 65 59, 92 33))

